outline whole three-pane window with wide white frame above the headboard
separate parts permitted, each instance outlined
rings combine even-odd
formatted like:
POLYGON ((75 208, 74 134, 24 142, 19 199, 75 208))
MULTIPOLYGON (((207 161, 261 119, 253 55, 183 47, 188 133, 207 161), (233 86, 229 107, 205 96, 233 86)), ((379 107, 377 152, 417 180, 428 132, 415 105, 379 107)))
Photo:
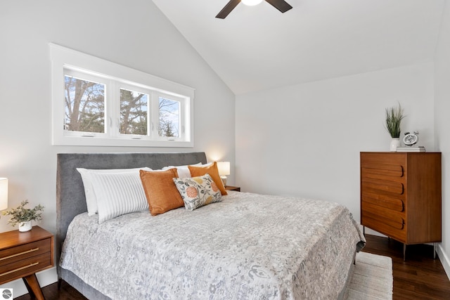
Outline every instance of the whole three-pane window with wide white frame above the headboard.
POLYGON ((193 89, 50 48, 53 145, 193 147, 193 89))

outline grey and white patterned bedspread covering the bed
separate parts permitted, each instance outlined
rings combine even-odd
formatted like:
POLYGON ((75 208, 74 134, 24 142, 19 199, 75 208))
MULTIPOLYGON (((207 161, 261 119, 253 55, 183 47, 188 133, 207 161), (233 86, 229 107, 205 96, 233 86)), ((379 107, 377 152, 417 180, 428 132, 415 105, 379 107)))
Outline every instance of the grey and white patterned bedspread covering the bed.
POLYGON ((112 299, 336 299, 364 237, 340 204, 229 192, 70 224, 60 266, 112 299))

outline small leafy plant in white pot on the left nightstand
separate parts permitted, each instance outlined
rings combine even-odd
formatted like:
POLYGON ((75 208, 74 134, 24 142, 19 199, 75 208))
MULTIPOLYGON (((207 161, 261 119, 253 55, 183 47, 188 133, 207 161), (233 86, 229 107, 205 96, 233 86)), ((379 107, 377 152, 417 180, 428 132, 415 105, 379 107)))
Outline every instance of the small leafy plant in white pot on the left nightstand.
POLYGON ((33 209, 25 208, 25 205, 27 204, 28 200, 25 200, 20 203, 17 208, 7 210, 2 213, 4 216, 11 216, 8 224, 11 224, 11 226, 16 226, 19 224, 19 231, 21 232, 31 230, 31 221, 41 221, 42 211, 44 211, 44 207, 41 206, 41 204, 37 205, 33 209))

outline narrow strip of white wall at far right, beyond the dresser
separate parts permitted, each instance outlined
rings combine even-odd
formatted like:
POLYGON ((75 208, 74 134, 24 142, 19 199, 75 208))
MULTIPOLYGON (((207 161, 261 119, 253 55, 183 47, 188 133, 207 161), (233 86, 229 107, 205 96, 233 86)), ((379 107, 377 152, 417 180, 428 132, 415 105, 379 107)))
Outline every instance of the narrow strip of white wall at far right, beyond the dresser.
POLYGON ((442 13, 435 57, 436 148, 442 152, 442 243, 439 258, 450 278, 450 1, 442 13))

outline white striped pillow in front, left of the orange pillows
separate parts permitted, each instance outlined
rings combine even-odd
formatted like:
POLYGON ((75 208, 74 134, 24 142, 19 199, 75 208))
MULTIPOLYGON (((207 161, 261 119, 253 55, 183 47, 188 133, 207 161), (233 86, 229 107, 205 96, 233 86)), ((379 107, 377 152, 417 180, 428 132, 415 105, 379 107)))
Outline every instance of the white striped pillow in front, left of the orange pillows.
POLYGON ((98 205, 98 223, 148 209, 139 172, 92 173, 91 180, 98 205))

